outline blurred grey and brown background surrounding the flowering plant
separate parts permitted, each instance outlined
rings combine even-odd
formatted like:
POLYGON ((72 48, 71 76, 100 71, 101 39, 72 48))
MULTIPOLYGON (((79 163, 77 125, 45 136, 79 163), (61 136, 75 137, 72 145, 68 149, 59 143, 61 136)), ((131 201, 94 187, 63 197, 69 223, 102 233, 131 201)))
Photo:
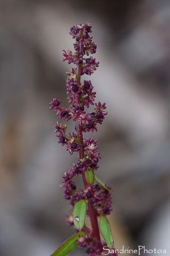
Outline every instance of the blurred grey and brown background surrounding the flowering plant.
POLYGON ((100 61, 87 79, 108 115, 84 136, 98 139, 97 176, 114 190, 115 246, 170 255, 169 13, 168 0, 0 0, 1 256, 48 256, 73 234, 59 184, 77 158, 57 143, 49 102, 67 106, 61 51, 87 21, 100 61))

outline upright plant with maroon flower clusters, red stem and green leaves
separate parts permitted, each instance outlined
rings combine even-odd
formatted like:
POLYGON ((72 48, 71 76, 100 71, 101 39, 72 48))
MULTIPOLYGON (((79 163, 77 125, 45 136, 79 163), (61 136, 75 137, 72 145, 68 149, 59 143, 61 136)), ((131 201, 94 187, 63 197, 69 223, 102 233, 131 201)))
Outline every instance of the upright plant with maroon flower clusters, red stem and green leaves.
MULTIPOLYGON (((74 49, 72 51, 62 51, 63 61, 75 64, 67 74, 66 86, 69 99, 69 108, 61 107, 61 101, 53 98, 50 102, 50 109, 56 110, 57 115, 69 121, 75 121, 76 133, 66 133, 67 125, 57 121, 56 136, 58 143, 66 146, 66 150, 72 155, 78 152, 78 162, 70 167, 63 176, 64 199, 70 201, 70 210, 66 216, 66 222, 69 226, 74 225, 75 234, 62 243, 52 256, 64 256, 75 247, 86 247, 87 255, 101 255, 102 248, 109 246, 113 248, 113 237, 106 215, 111 213, 112 189, 104 184, 95 175, 98 168, 97 163, 100 159, 100 153, 97 151, 97 140, 92 138, 83 138, 83 132, 97 131, 97 124, 104 121, 105 103, 95 103, 94 112, 86 113, 85 108, 90 104, 94 105, 96 92, 91 81, 80 81, 84 74, 91 75, 99 66, 99 62, 90 54, 96 53, 96 44, 92 42, 92 36, 89 34, 92 26, 90 23, 74 25, 70 29, 70 35, 75 39, 74 49), (84 188, 76 189, 73 178, 82 176, 84 188), (88 228, 85 220, 86 216, 90 218, 91 228, 88 228), (97 221, 99 217, 99 224, 97 221), (100 231, 99 231, 100 230, 100 231), (104 242, 100 240, 100 233, 103 235, 104 242)), ((114 254, 116 255, 116 254, 114 254)))

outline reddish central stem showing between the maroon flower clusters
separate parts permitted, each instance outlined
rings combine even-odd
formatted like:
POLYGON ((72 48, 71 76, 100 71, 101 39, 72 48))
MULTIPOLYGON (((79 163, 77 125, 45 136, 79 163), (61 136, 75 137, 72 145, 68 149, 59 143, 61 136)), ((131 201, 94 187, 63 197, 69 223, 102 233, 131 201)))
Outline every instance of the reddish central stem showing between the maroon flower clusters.
MULTIPOLYGON (((79 51, 83 52, 82 43, 79 44, 79 51)), ((80 65, 78 65, 77 81, 78 81, 79 85, 80 85, 80 76, 81 76, 81 67, 80 67, 80 65)), ((75 96, 75 102, 76 102, 76 105, 80 104, 80 97, 78 94, 76 94, 76 96, 75 96)), ((80 147, 81 147, 80 151, 79 151, 79 159, 84 159, 83 133, 82 133, 82 127, 79 125, 78 120, 76 120, 76 134, 77 134, 77 138, 78 138, 78 141, 79 141, 80 147)), ((87 188, 88 184, 87 184, 84 172, 82 173, 82 176, 83 176, 84 188, 87 188)), ((100 241, 100 244, 101 244, 99 225, 97 222, 97 214, 96 214, 94 207, 90 203, 90 201, 88 201, 88 214, 90 217, 93 234, 97 238, 97 240, 100 241)))

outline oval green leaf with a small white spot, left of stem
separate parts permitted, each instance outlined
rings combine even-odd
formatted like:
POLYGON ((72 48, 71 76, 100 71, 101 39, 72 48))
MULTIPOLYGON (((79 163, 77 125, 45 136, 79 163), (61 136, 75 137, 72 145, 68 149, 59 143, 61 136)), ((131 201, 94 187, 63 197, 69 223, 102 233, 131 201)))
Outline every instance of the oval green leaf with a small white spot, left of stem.
POLYGON ((85 222, 85 218, 86 218, 86 209, 87 209, 87 205, 86 205, 86 201, 84 199, 78 201, 74 205, 73 221, 74 221, 75 228, 78 229, 79 231, 84 226, 84 222, 85 222))

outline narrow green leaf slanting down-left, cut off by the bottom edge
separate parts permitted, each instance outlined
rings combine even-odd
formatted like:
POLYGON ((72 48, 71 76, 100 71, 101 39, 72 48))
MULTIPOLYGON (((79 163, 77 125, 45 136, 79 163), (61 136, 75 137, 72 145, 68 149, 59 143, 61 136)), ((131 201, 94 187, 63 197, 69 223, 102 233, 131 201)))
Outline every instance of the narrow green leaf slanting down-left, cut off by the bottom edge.
POLYGON ((70 253, 70 251, 73 251, 76 246, 77 242, 76 240, 78 239, 79 236, 83 236, 84 232, 78 232, 74 234, 72 237, 68 238, 65 242, 62 243, 61 246, 58 247, 54 253, 50 256, 65 256, 70 253))

